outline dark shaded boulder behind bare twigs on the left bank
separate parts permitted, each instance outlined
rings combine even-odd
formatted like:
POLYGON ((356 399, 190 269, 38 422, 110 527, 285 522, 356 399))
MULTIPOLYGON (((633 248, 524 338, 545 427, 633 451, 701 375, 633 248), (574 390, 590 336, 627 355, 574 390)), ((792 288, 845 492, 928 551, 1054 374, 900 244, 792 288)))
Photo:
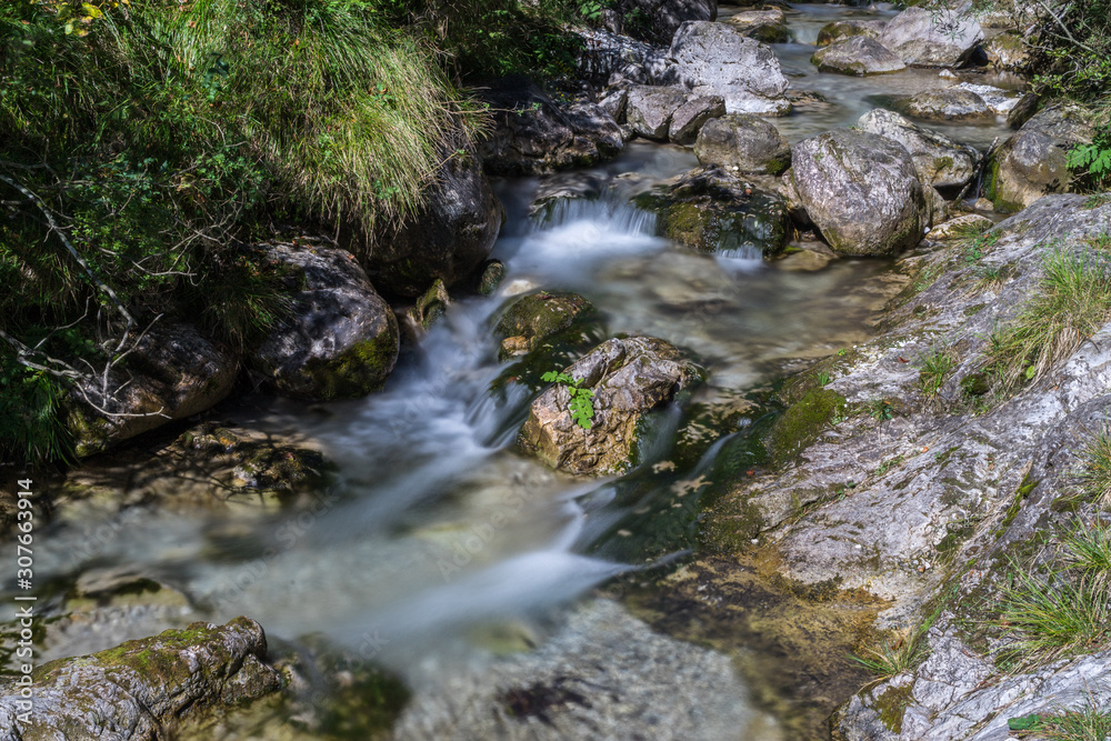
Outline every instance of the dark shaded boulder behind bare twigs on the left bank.
POLYGON ((66 423, 80 457, 211 409, 239 373, 234 354, 183 323, 156 321, 126 360, 69 392, 66 423))

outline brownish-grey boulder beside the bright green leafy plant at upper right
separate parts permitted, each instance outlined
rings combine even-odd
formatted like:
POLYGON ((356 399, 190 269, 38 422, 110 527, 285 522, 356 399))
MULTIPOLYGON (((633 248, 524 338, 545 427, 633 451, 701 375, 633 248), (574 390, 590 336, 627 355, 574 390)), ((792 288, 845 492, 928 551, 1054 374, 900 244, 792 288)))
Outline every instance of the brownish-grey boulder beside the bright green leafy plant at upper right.
POLYGON ((1069 150, 1092 141, 1084 111, 1072 104, 1047 108, 1011 134, 988 163, 984 196, 997 211, 1019 211, 1047 193, 1068 192, 1069 150))

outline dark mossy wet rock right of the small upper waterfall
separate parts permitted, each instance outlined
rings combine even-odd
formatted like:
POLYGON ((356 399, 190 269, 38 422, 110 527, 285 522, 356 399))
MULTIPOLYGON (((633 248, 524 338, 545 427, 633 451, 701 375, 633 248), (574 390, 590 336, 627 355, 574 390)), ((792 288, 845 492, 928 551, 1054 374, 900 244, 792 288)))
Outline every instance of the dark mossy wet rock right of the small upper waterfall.
POLYGON ((657 231, 677 242, 723 256, 778 254, 787 247, 787 202, 717 167, 692 170, 637 204, 654 211, 657 231))

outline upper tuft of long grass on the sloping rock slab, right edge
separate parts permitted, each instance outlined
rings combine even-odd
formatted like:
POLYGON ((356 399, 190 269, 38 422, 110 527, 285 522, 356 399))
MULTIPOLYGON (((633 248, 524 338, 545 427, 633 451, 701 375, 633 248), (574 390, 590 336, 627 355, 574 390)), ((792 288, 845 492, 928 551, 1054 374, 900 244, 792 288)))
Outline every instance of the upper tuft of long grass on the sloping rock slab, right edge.
POLYGON ((1001 395, 1015 392, 1068 358, 1111 321, 1111 269, 1091 252, 1053 251, 1038 293, 989 338, 984 368, 1001 395))

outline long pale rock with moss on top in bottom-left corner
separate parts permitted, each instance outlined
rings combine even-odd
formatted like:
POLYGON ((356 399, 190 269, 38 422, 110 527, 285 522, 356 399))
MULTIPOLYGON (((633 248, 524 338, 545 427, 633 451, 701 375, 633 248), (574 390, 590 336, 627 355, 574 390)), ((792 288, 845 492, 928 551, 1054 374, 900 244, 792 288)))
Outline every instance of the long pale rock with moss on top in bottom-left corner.
POLYGON ((59 659, 34 670, 34 708, 24 712, 14 681, 0 685, 0 741, 160 739, 208 710, 240 705, 281 689, 266 663, 259 623, 196 622, 108 651, 59 659))

